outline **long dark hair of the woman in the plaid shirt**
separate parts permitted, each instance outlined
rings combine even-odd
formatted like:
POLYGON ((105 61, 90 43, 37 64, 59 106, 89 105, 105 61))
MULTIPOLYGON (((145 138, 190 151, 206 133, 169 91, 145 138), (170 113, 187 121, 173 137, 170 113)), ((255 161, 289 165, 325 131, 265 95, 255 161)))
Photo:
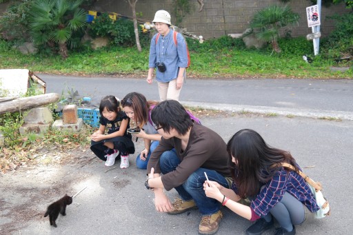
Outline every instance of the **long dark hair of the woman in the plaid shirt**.
POLYGON ((228 141, 227 151, 234 183, 238 186, 241 198, 259 194, 261 185, 270 181, 281 167, 275 163, 290 163, 298 171, 296 161, 285 150, 271 147, 259 133, 250 129, 236 132, 228 141), (236 163, 232 163, 234 157, 236 163))

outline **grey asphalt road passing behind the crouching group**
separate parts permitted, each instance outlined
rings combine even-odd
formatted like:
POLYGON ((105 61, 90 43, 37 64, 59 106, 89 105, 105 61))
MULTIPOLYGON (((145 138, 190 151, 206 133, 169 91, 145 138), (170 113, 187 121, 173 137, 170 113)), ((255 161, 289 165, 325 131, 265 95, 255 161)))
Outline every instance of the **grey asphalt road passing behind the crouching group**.
MULTIPOLYGON (((47 83, 47 93, 74 89, 96 103, 113 94, 120 99, 141 92, 159 99, 157 83, 145 79, 79 77, 37 74, 47 83)), ((353 120, 353 80, 319 79, 187 79, 180 96, 185 105, 231 111, 294 114, 353 120)))

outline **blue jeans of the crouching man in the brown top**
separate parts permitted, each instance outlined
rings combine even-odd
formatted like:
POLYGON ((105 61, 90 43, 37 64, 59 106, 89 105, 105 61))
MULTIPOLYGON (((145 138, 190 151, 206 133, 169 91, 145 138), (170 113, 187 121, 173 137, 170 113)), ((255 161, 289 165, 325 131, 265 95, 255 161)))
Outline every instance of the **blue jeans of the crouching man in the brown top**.
MULTIPOLYGON (((162 174, 168 174, 168 172, 174 171, 180 162, 181 161, 176 152, 163 152, 160 159, 162 174)), ((199 168, 192 173, 182 185, 175 187, 175 190, 177 190, 183 201, 190 201, 193 199, 197 207, 199 207, 201 214, 206 216, 218 212, 221 208, 221 203, 213 198, 208 198, 205 191, 203 191, 203 183, 206 180, 203 172, 206 172, 210 181, 216 181, 223 187, 229 188, 228 182, 224 176, 215 170, 199 168)))

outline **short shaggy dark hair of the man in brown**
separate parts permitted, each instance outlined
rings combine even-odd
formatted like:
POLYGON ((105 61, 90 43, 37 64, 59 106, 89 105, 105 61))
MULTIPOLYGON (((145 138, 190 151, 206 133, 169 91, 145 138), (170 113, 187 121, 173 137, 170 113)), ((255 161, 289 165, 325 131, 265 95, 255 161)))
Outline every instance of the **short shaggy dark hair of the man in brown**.
POLYGON ((178 101, 167 100, 159 103, 152 110, 151 118, 157 127, 169 133, 171 128, 183 135, 193 125, 192 120, 183 105, 178 101))

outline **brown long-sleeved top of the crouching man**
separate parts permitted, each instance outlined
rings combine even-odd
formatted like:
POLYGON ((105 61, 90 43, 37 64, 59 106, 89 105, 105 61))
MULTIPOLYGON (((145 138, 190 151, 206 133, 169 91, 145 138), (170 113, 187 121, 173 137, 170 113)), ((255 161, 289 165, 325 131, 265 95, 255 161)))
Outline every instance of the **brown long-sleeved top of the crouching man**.
POLYGON ((229 156, 225 142, 208 127, 194 123, 190 131, 188 146, 181 150, 181 139, 161 139, 157 148, 152 152, 148 161, 148 172, 154 167, 155 173, 161 173, 159 158, 163 152, 175 148, 181 163, 177 169, 161 176, 165 190, 183 184, 188 177, 200 167, 215 170, 223 176, 231 176, 229 169, 229 156))

